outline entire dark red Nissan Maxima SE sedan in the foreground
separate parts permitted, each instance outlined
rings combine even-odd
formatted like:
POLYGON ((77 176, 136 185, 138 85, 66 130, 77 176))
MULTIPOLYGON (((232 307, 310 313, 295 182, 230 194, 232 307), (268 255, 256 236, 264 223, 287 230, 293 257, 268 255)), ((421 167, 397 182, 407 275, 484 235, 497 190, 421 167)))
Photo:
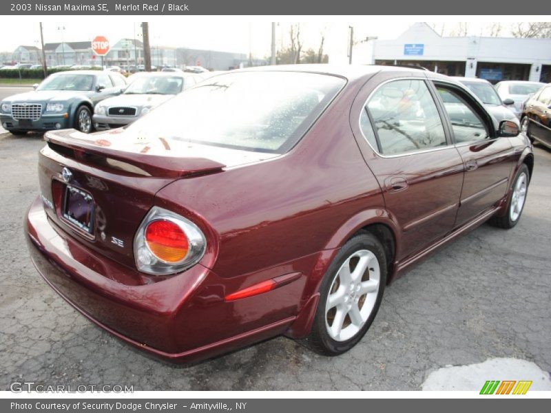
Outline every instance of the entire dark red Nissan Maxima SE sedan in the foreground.
POLYGON ((487 220, 517 224, 534 165, 515 123, 399 67, 220 74, 129 127, 45 140, 34 264, 172 361, 282 334, 349 350, 409 266, 487 220))

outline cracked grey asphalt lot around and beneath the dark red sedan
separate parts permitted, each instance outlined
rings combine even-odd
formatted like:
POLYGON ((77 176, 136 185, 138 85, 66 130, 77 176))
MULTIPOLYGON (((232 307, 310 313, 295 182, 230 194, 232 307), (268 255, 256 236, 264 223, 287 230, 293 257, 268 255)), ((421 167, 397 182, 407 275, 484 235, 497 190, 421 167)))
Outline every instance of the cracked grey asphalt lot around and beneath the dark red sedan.
MULTIPOLYGON (((394 282, 350 352, 322 357, 278 337, 176 367, 96 328, 32 266, 22 222, 38 193, 42 145, 40 134, 0 134, 0 390, 13 381, 134 390, 420 390, 431 372, 497 357, 535 363, 543 375, 551 370, 548 149, 535 148, 519 224, 510 231, 484 224, 394 282)), ((479 377, 487 379, 500 378, 479 377)))

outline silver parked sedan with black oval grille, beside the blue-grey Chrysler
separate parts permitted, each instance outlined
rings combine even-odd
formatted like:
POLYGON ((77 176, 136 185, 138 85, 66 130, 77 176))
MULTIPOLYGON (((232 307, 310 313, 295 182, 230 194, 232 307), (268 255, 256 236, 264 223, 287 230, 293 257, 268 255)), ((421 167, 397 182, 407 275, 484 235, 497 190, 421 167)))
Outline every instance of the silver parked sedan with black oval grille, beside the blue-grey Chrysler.
POLYGON ((98 131, 128 125, 198 81, 197 75, 184 72, 139 73, 132 76, 123 94, 96 105, 93 120, 98 131))

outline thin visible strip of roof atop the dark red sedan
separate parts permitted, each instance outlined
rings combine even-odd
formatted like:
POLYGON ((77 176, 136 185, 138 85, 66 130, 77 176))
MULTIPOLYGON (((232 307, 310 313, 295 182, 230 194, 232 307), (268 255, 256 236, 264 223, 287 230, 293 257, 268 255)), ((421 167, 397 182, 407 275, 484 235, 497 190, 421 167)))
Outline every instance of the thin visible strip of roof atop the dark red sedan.
MULTIPOLYGON (((313 65, 275 65, 275 66, 259 66, 247 67, 232 72, 309 72, 320 74, 332 74, 334 76, 342 76, 353 80, 361 78, 367 74, 375 74, 377 72, 404 72, 410 74, 417 72, 426 74, 427 76, 436 75, 433 72, 428 72, 422 67, 399 67, 391 65, 336 65, 336 64, 313 64, 313 65)), ((446 76, 447 77, 447 76, 446 76)))

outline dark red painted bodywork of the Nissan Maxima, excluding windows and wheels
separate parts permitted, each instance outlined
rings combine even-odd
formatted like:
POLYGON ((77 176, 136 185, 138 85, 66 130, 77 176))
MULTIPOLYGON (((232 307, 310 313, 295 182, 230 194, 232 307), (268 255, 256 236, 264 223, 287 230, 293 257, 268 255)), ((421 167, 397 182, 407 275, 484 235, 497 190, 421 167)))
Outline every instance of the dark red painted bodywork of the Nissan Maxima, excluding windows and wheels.
MULTIPOLYGON (((302 338, 311 328, 320 281, 351 235, 369 228, 380 238, 390 282, 437 247, 505 213, 517 169, 524 162, 532 171, 531 145, 522 135, 379 156, 358 123, 371 92, 393 78, 448 78, 395 67, 331 73, 346 85, 298 144, 244 167, 185 159, 167 167, 113 151, 114 158, 150 172, 136 178, 94 161, 94 153, 109 151, 102 142, 116 139, 112 132, 96 134, 96 147, 70 138, 70 131, 47 135, 42 194, 25 223, 32 260, 46 282, 116 337, 171 361, 205 359, 281 334, 302 338), (63 167, 73 171, 74 185, 93 189, 101 206, 96 226, 107 223, 122 234, 123 248, 78 234, 59 219, 63 167), (174 276, 136 269, 132 240, 152 205, 202 230, 207 251, 198 264, 174 276), (273 290, 225 300, 269 279, 273 290)), ((496 129, 492 125, 492 134, 496 129)))

